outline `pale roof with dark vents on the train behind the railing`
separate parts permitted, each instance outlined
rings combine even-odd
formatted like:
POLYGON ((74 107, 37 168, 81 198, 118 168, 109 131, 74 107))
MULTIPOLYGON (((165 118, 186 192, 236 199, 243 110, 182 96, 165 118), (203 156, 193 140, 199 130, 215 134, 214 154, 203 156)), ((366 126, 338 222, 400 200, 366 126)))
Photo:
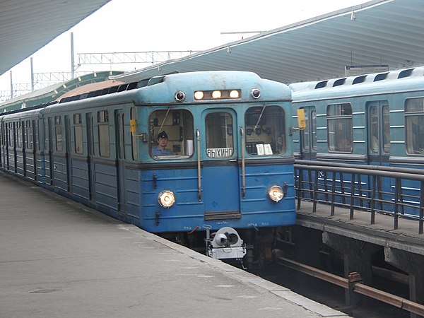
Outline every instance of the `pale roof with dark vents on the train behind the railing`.
POLYGON ((423 90, 424 66, 334 78, 327 81, 293 83, 293 100, 306 98, 341 98, 348 95, 394 93, 402 90, 423 90))

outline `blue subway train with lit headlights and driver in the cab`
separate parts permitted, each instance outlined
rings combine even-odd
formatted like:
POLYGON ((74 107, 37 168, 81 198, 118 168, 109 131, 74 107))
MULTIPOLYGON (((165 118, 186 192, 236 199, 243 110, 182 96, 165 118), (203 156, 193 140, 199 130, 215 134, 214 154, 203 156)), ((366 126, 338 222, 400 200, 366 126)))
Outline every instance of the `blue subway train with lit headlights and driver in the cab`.
POLYGON ((1 114, 0 164, 211 257, 252 261, 295 223, 291 118, 282 83, 175 73, 1 114))

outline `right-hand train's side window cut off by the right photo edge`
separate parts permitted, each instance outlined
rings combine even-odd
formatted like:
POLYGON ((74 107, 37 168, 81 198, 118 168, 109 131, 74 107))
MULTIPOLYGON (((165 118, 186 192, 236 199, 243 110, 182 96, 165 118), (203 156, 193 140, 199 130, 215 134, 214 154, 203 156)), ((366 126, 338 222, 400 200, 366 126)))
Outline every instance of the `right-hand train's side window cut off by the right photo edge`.
POLYGON ((424 155, 424 98, 405 102, 406 153, 424 155))

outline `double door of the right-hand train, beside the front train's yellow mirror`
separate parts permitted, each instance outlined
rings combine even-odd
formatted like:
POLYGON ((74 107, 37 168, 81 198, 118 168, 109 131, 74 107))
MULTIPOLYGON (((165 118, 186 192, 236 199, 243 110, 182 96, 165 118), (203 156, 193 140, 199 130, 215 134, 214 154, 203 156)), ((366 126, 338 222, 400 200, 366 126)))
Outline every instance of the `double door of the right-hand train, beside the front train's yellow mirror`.
POLYGON ((300 158, 317 158, 317 111, 314 106, 302 107, 305 110, 305 129, 300 131, 300 158))

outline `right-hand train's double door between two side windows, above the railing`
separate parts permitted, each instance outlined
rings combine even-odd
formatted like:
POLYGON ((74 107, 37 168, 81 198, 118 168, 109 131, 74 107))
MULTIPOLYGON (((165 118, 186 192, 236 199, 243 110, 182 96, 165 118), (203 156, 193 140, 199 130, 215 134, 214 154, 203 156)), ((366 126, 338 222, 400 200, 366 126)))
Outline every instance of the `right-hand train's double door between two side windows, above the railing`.
POLYGON ((390 119, 387 100, 367 102, 368 164, 389 165, 390 119))

